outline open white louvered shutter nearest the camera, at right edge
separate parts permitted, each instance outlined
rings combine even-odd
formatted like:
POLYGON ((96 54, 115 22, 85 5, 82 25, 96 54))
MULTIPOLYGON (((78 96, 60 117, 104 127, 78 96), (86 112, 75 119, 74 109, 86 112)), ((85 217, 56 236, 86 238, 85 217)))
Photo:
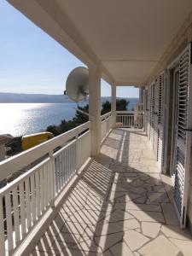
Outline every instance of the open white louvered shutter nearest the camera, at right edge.
POLYGON ((179 79, 177 98, 177 143, 175 160, 175 186, 173 201, 181 227, 185 226, 189 190, 190 148, 191 148, 191 49, 184 50, 179 58, 179 79))

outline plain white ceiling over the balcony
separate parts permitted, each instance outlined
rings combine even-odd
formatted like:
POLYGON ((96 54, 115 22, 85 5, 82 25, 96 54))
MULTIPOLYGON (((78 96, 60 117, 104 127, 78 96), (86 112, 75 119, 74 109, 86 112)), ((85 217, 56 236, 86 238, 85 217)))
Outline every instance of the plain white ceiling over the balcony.
POLYGON ((9 2, 118 84, 142 84, 192 10, 191 0, 9 2))

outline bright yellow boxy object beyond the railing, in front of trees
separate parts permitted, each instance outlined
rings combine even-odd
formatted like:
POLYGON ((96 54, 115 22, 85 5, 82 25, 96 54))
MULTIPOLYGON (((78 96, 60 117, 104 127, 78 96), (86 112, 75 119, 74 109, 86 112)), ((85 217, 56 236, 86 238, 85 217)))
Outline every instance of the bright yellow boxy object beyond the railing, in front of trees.
POLYGON ((44 143, 50 138, 54 137, 53 133, 49 131, 34 133, 22 137, 23 150, 37 146, 40 143, 44 143))

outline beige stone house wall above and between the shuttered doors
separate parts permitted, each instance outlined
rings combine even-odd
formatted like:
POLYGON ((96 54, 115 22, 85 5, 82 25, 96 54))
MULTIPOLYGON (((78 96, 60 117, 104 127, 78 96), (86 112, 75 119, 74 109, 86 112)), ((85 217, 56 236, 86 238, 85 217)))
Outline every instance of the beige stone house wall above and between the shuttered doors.
MULTIPOLYGON (((148 81, 146 81, 146 84, 148 86, 148 111, 147 111, 147 135, 149 139, 150 134, 150 84, 154 82, 155 79, 158 78, 159 74, 166 70, 166 68, 177 58, 177 55, 179 55, 182 50, 189 44, 189 42, 192 41, 192 13, 189 15, 188 19, 185 21, 179 32, 177 33, 176 37, 173 38, 172 43, 169 45, 169 47, 166 49, 165 53, 160 58, 160 61, 158 62, 158 65, 154 68, 154 72, 150 75, 148 78, 148 81)), ((167 85, 166 85, 167 86, 167 85)), ((192 86, 192 84, 191 84, 192 86)), ((159 91, 159 88, 156 88, 157 92, 159 91)), ((166 90, 164 90, 164 94, 166 93, 166 90)), ((155 99, 156 101, 157 99, 155 99)), ((170 105, 171 106, 171 105, 170 105)), ((172 124, 172 116, 169 116, 168 123, 172 124)), ((169 125, 170 127, 170 125, 169 125)), ((170 134, 170 131, 168 131, 168 134, 170 134)), ((170 163, 170 151, 171 151, 171 145, 170 141, 168 142, 168 148, 167 150, 167 166, 169 166, 170 163)), ((156 151, 157 148, 157 140, 154 139, 154 151, 156 151)), ((156 154, 156 152, 154 152, 156 154)), ((192 157, 191 157, 192 159, 192 157)), ((166 170, 167 171, 167 170, 166 170)), ((168 170, 170 172, 170 170, 168 170)), ((188 225, 190 227, 191 233, 192 233, 192 163, 191 163, 191 176, 190 176, 190 182, 189 182, 189 206, 188 206, 188 225)))

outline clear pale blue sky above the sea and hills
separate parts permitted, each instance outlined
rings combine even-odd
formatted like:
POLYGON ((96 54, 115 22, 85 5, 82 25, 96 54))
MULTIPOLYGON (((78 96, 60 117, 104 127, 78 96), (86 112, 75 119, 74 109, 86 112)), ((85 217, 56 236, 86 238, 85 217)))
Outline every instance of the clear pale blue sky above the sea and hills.
MULTIPOLYGON (((74 55, 0 0, 0 92, 62 94, 68 74, 84 66, 74 55)), ((102 96, 111 86, 102 79, 102 96)), ((117 96, 137 97, 138 89, 119 87, 117 96)))

